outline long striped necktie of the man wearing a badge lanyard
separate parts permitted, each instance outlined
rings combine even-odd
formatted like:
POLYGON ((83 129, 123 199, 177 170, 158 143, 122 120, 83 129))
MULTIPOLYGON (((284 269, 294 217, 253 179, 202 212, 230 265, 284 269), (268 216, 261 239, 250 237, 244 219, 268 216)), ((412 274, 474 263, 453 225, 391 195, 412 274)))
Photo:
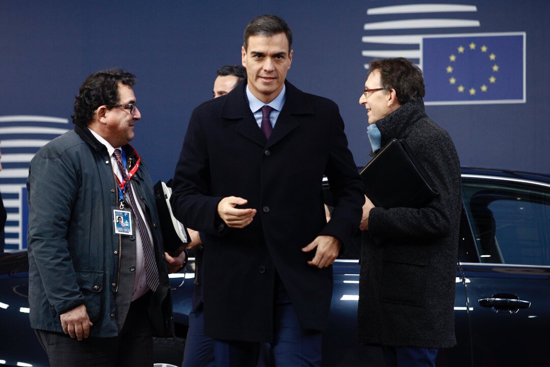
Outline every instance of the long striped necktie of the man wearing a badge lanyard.
MULTIPOLYGON (((124 169, 124 163, 122 163, 120 150, 115 149, 113 152, 113 156, 117 160, 118 168, 122 173, 122 177, 126 177, 126 171, 124 169)), ((153 250, 153 244, 151 243, 151 238, 149 237, 149 233, 147 232, 147 227, 145 227, 145 222, 139 213, 136 202, 134 201, 134 195, 131 191, 132 189, 130 182, 128 182, 126 185, 127 189, 125 196, 127 196, 130 200, 130 206, 132 211, 134 212, 136 224, 138 224, 139 234, 141 236, 141 245, 143 247, 143 255, 145 260, 145 280, 147 282, 147 286, 149 286, 151 291, 155 292, 158 284, 160 283, 158 280, 158 268, 155 261, 155 250, 153 250)))

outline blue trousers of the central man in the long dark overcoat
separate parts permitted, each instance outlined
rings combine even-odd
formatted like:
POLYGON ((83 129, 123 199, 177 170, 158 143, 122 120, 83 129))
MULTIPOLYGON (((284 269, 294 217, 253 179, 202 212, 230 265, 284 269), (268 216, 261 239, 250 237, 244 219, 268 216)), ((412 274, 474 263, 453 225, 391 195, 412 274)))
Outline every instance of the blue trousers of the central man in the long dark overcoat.
MULTIPOLYGON (((276 290, 275 335, 270 345, 268 364, 275 366, 320 366, 322 332, 300 326, 298 314, 287 292, 278 281, 276 290)), ((265 354, 261 343, 222 341, 214 342, 217 366, 264 365, 260 355, 265 354)))

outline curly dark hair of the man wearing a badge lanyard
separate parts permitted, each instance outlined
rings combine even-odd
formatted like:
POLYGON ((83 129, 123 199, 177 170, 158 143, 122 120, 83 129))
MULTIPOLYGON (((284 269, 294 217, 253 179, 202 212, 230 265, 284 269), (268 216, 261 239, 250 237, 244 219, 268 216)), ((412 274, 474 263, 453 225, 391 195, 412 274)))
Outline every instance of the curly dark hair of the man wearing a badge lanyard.
POLYGON ((88 76, 75 97, 74 114, 71 116, 73 123, 87 126, 92 121, 97 107, 118 104, 119 83, 133 87, 135 82, 134 74, 119 68, 101 70, 88 76))

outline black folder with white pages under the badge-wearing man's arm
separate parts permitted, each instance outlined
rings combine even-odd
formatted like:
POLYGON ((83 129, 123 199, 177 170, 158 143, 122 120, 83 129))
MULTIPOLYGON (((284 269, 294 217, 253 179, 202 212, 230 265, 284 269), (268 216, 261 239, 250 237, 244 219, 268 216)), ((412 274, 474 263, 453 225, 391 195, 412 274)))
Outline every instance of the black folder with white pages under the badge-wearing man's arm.
POLYGON ((161 221, 160 225, 164 242, 164 251, 172 256, 178 256, 191 242, 189 232, 172 213, 172 206, 170 205, 172 189, 162 181, 157 182, 154 189, 158 217, 161 221))

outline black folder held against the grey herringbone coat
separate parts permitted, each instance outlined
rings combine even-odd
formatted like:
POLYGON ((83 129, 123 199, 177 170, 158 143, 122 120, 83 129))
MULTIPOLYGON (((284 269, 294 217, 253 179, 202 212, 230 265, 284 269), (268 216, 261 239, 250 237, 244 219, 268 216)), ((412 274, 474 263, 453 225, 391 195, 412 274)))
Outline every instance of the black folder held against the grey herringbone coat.
POLYGON ((361 169, 365 195, 375 206, 420 208, 439 194, 404 139, 392 139, 361 169))

